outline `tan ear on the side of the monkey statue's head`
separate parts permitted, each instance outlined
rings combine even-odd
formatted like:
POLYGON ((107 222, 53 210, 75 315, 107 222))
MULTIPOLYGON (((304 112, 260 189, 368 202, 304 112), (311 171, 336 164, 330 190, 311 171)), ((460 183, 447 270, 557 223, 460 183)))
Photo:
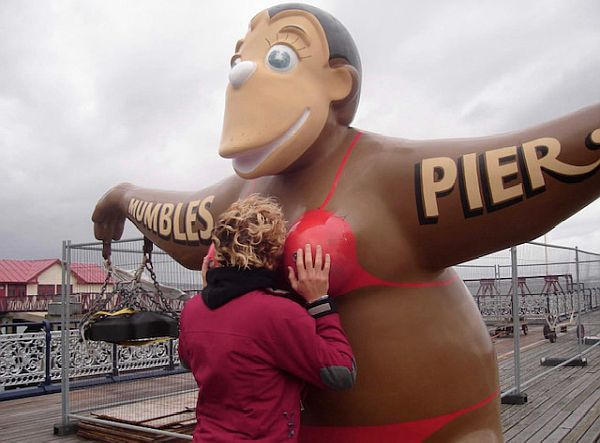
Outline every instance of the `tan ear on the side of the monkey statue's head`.
POLYGON ((329 66, 334 83, 331 86, 331 102, 336 119, 342 125, 349 125, 354 118, 360 97, 360 73, 341 58, 330 60, 329 66))

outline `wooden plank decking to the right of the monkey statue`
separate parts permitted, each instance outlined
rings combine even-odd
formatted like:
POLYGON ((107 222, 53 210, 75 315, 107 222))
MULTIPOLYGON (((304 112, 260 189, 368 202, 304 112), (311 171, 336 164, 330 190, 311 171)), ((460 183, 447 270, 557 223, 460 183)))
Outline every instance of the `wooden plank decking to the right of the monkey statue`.
MULTIPOLYGON (((600 313, 585 316, 583 322, 589 323, 586 335, 600 335, 600 313)), ((589 347, 582 345, 583 350, 589 347)), ((526 346, 522 351, 521 380, 549 369, 540 365, 542 357, 572 357, 576 349, 575 327, 559 335, 556 343, 543 340, 526 346)), ((526 387, 525 405, 502 405, 502 428, 507 442, 600 440, 600 345, 584 358, 588 359, 588 366, 558 368, 526 387)), ((512 355, 499 355, 498 365, 500 385, 505 391, 513 386, 512 355)))

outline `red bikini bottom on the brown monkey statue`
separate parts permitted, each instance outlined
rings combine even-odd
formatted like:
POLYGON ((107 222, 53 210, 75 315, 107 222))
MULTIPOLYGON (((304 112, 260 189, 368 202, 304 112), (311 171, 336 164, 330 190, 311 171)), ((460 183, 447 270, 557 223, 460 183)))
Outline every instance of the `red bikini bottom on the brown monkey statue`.
POLYGON ((498 397, 494 392, 486 399, 464 409, 433 418, 380 426, 302 426, 301 442, 310 443, 417 443, 430 437, 451 421, 468 412, 480 409, 498 397))

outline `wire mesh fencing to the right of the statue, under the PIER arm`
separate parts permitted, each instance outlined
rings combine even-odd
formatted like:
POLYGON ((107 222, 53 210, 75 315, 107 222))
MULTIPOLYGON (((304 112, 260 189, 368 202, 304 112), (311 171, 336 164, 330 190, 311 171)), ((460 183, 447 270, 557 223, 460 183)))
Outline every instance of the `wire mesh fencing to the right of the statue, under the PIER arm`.
POLYGON ((503 401, 597 357, 600 254, 531 242, 456 269, 495 339, 503 401))

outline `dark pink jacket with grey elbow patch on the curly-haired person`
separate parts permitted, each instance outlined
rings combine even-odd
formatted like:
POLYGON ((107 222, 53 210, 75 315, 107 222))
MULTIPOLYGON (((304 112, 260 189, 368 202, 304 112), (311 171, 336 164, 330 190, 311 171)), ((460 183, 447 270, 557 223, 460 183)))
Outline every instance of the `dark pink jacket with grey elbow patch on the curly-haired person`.
POLYGON ((295 442, 305 382, 353 386, 339 315, 314 312, 263 290, 215 310, 200 296, 186 303, 179 355, 199 387, 194 442, 295 442))

